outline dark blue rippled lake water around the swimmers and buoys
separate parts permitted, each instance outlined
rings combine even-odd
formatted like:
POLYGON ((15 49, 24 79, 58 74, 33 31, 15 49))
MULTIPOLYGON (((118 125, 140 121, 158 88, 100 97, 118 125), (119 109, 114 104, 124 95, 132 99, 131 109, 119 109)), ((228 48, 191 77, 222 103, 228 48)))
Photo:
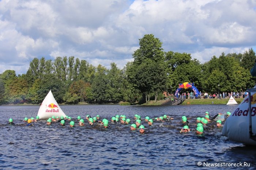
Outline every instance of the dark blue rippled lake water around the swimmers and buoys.
MULTIPOLYGON (((0 106, 0 169, 200 169, 195 162, 251 163, 255 169, 256 149, 229 141, 222 129, 209 123, 204 135, 196 135, 196 118, 219 112, 234 111, 237 106, 119 106, 63 105, 66 115, 83 119, 87 114, 109 120, 110 127, 62 127, 57 122, 47 126, 46 120, 25 126, 25 117, 35 117, 39 106, 0 106), (174 120, 153 126, 142 121, 145 133, 131 131, 130 125, 111 123, 111 117, 126 115, 134 123, 134 115, 155 118, 164 114, 174 120), (186 115, 191 132, 179 133, 186 115), (9 125, 8 119, 15 125, 9 125)), ((75 121, 78 124, 78 121, 75 121)), ((130 123, 130 124, 131 124, 130 123)), ((232 167, 236 169, 237 167, 232 167)), ((209 168, 208 168, 209 169, 209 168)), ((211 168, 212 169, 212 168, 211 168)), ((217 168, 216 168, 217 169, 217 168)), ((242 167, 238 167, 242 169, 242 167)))

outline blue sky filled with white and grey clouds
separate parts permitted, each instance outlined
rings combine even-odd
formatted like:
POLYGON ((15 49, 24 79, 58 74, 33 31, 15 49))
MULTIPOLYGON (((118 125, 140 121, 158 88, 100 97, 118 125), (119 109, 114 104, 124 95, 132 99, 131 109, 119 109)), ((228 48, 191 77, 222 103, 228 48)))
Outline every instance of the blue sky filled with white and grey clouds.
POLYGON ((0 73, 57 56, 121 69, 151 33, 205 63, 256 51, 255 28, 256 0, 0 0, 0 73))

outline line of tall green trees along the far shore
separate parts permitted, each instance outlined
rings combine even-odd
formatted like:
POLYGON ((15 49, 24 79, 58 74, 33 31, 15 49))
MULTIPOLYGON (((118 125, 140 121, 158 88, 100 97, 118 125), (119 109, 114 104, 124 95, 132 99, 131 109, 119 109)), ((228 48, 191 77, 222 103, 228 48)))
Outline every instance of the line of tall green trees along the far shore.
POLYGON ((15 70, 0 74, 0 104, 39 104, 49 90, 58 103, 118 103, 163 99, 163 91, 174 93, 179 83, 193 82, 202 92, 245 91, 255 85, 250 70, 256 55, 224 54, 201 64, 191 54, 168 51, 153 34, 139 39, 139 49, 123 69, 97 67, 74 56, 54 60, 34 58, 26 74, 15 70))

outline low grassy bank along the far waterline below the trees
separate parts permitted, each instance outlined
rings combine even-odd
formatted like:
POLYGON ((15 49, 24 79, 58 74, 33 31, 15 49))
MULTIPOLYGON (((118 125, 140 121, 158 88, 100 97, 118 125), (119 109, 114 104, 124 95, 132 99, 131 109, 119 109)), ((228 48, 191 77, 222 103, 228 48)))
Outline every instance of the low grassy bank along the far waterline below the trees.
MULTIPOLYGON (((235 98, 236 102, 240 104, 245 98, 235 98)), ((229 99, 186 99, 181 105, 190 105, 190 104, 227 104, 229 99)), ((166 100, 157 100, 157 102, 154 102, 154 100, 150 101, 149 103, 129 103, 129 102, 119 102, 116 104, 119 104, 121 106, 129 106, 129 105, 139 105, 139 106, 159 106, 165 103, 166 100)), ((110 103, 115 104, 115 103, 110 103)), ((28 104, 28 103, 19 103, 19 104, 7 104, 7 105, 0 105, 0 106, 33 106, 33 105, 40 105, 40 104, 28 104)), ((61 103, 59 105, 69 105, 65 103, 61 103)), ((89 104, 86 102, 79 102, 78 104, 71 104, 71 105, 95 105, 95 104, 89 104)), ((96 104, 97 105, 97 104, 96 104)))

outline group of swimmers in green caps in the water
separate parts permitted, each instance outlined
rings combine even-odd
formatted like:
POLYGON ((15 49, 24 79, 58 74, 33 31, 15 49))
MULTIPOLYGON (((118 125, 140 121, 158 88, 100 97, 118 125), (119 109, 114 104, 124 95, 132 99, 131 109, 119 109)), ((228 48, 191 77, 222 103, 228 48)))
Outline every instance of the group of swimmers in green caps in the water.
MULTIPOLYGON (((218 113, 212 118, 209 115, 209 112, 206 111, 205 115, 203 117, 197 117, 196 120, 193 120, 191 118, 187 118, 187 116, 181 117, 181 130, 180 133, 188 133, 191 131, 189 127, 194 127, 196 134, 203 134, 204 128, 208 126, 208 124, 214 123, 216 128, 222 127, 223 121, 225 121, 225 116, 229 117, 231 115, 230 112, 218 113)), ((134 118, 126 118, 125 115, 116 115, 111 118, 112 124, 129 124, 130 129, 133 130, 139 130, 140 133, 145 133, 145 126, 147 128, 150 128, 150 126, 153 126, 154 122, 172 122, 174 118, 163 115, 156 118, 150 118, 149 116, 146 116, 145 118, 142 118, 140 115, 135 114, 134 118), (119 123, 120 122, 120 123, 119 123), (144 125, 143 125, 144 124, 144 125)), ((39 119, 39 116, 36 116, 34 119, 31 118, 24 118, 23 122, 26 122, 25 126, 34 126, 38 121, 46 121, 46 125, 50 126, 52 123, 59 123, 60 126, 66 126, 68 124, 69 127, 75 127, 75 126, 84 126, 85 123, 88 123, 89 126, 102 126, 103 128, 109 128, 109 120, 108 119, 102 119, 99 115, 95 117, 91 117, 90 115, 86 115, 85 119, 82 119, 81 116, 78 116, 75 120, 71 118, 70 116, 52 116, 51 118, 47 120, 41 120, 39 119)), ((15 125, 13 122, 13 119, 9 119, 9 123, 11 125, 15 125)), ((160 125, 159 125, 160 126, 160 125)))

